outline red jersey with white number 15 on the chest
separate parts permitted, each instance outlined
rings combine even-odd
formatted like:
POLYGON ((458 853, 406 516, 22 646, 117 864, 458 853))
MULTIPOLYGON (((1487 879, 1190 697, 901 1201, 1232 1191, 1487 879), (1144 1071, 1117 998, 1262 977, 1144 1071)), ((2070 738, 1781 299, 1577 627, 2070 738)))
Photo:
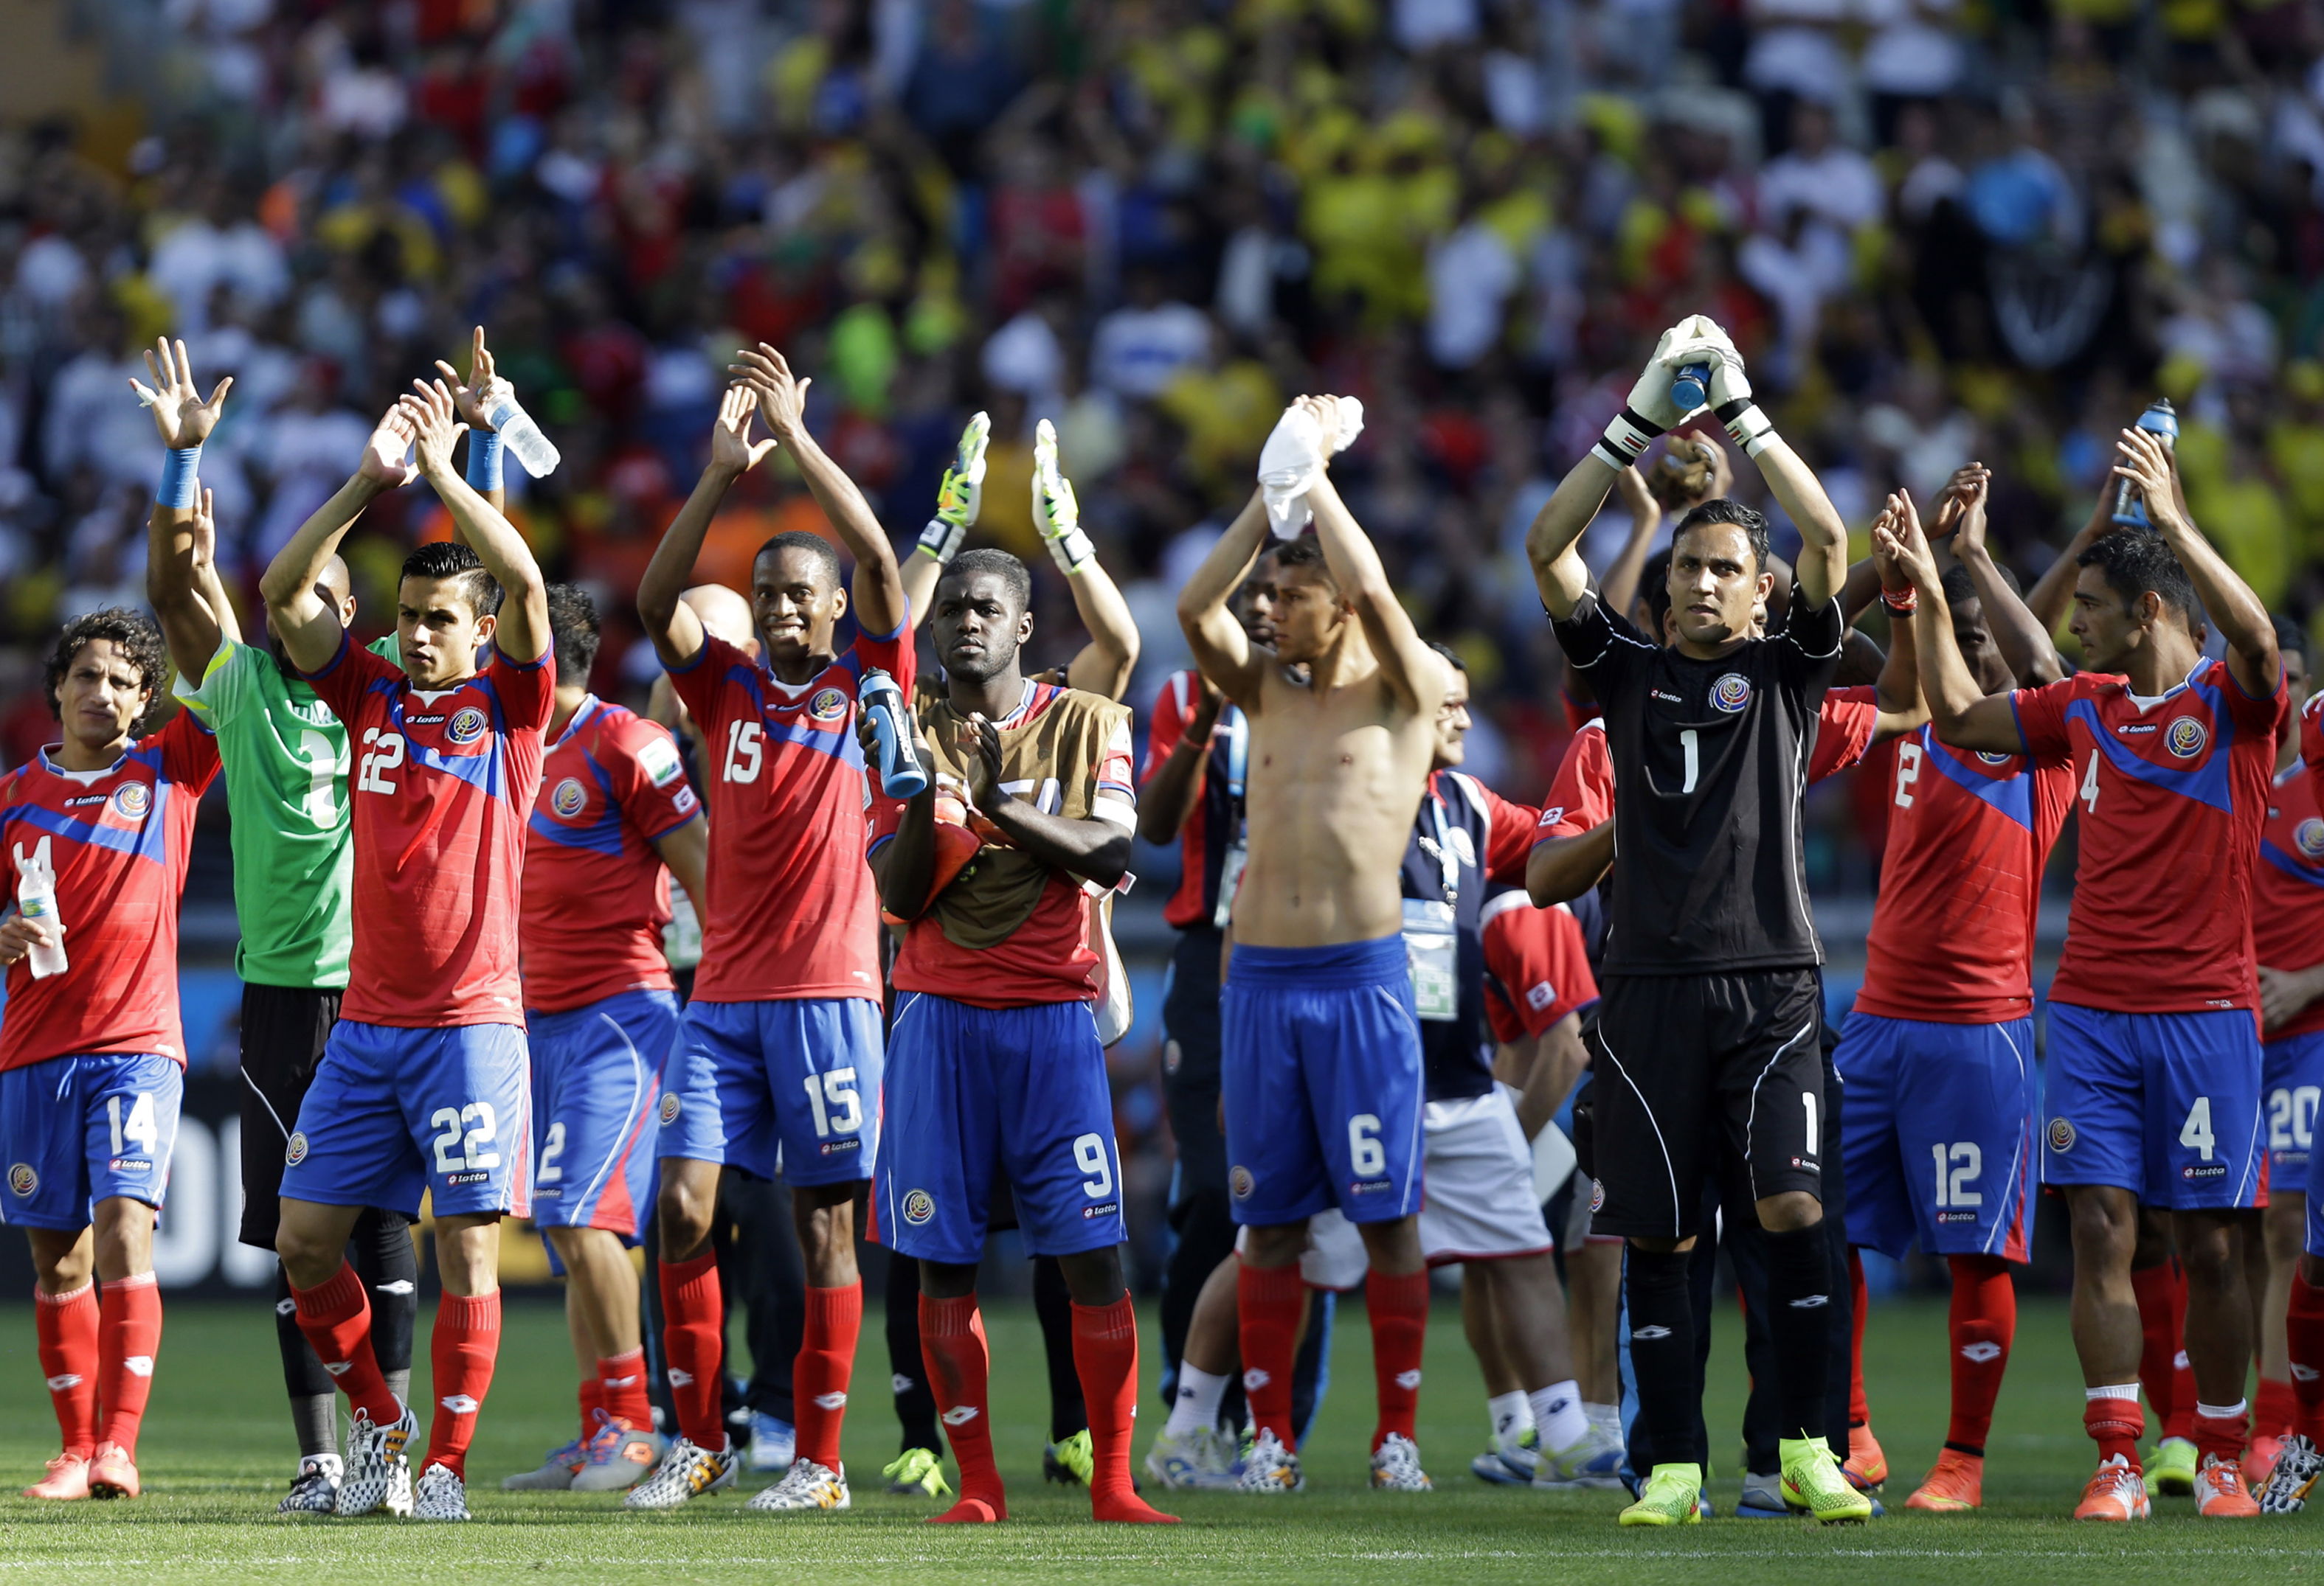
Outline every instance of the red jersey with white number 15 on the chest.
POLYGON ((806 683, 783 683, 713 634, 669 673, 702 734, 709 915, 695 1001, 878 1001, 878 896, 865 868, 869 778, 855 685, 885 671, 911 699, 909 627, 858 634, 806 683))

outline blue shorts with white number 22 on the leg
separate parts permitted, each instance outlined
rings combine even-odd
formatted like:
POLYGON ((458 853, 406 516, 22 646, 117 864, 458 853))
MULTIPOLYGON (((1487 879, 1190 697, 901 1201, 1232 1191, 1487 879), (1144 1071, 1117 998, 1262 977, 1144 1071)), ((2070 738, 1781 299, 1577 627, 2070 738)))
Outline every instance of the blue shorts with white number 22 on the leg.
POLYGON ((418 1217, 532 1203, 532 1087, 514 1024, 402 1029, 339 1019, 284 1152, 284 1201, 418 1217))

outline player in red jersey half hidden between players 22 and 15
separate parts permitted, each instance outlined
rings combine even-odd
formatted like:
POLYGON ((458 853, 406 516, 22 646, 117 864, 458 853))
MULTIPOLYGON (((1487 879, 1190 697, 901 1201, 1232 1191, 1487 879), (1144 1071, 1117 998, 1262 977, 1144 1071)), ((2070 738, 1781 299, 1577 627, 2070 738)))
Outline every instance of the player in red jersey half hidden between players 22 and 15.
POLYGON ((679 1033, 662 957, 669 878, 702 894, 702 801, 679 745, 597 699, 597 606, 548 587, 558 659, 541 792, 525 838, 518 917, 532 1047, 532 1221, 565 1266, 581 1361, 581 1440, 507 1486, 604 1493, 662 1456, 646 1398, 637 1268, 651 1214, 662 1064, 679 1033))

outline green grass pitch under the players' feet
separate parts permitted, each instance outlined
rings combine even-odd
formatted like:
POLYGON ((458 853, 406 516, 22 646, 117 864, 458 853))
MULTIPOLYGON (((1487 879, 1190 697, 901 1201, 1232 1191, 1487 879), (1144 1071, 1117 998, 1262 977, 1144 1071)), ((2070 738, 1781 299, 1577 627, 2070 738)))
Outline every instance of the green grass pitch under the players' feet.
MULTIPOLYGON (((1290 1500, 1162 1495, 1176 1528, 1095 1528, 1078 1491, 1043 1488, 1046 1389, 1030 1312, 988 1319, 995 1356, 995 1435, 1016 1519, 997 1528, 920 1526, 927 1505, 878 1491, 895 1451, 885 1354, 876 1314, 865 1328, 846 1454, 858 1472, 844 1516, 767 1519, 741 1509, 765 1486, 679 1514, 623 1514, 611 1495, 502 1495, 500 1477, 539 1463, 572 1421, 572 1361, 558 1312, 511 1307, 500 1377, 483 1412, 469 1472, 479 1523, 423 1528, 395 1521, 304 1521, 274 1514, 293 1458, 274 1326, 263 1303, 179 1305, 170 1312, 144 1433, 146 1498, 114 1505, 35 1505, 14 1498, 53 1454, 53 1421, 33 1356, 33 1317, 0 1307, 0 1581, 93 1579, 432 1579, 476 1570, 523 1579, 737 1581, 1334 1581, 1427 1586, 1525 1581, 1964 1581, 2020 1572, 2033 1581, 2280 1579, 2312 1567, 2324 1533, 2308 1516, 2208 1526, 2185 1498, 2159 1500, 2150 1526, 2075 1526, 2066 1519, 2092 1451, 2082 1389, 2054 1303, 2029 1303, 2020 1324, 1989 1454, 1982 1516, 1903 1516, 1943 1435, 1943 1310, 1875 1310, 1868 1333, 1873 1419, 1892 1461, 1899 1512, 1868 1528, 1817 1530, 1806 1521, 1734 1521, 1678 1533, 1624 1533, 1615 1493, 1536 1495, 1487 1488, 1469 1470, 1483 1447, 1476 1368, 1457 1317, 1436 1312, 1420 1447, 1439 1491, 1387 1498, 1364 1491, 1371 1426, 1371 1351, 1362 1312, 1343 1312, 1329 1405, 1308 1440, 1308 1491, 1290 1500)), ((1734 1428, 1743 1372, 1731 1310, 1720 1312, 1710 1426, 1734 1500, 1734 1428)), ((425 1317, 423 1317, 425 1324, 425 1317)), ((1148 1347, 1153 1331, 1148 1328, 1148 1347)), ((421 1349, 425 1372, 425 1345, 421 1349)), ((1148 1368, 1148 1389, 1153 1372, 1148 1368)), ((1146 1426, 1157 1426, 1146 1410, 1146 1426)), ((1143 1437, 1139 1442, 1143 1454, 1143 1437)))

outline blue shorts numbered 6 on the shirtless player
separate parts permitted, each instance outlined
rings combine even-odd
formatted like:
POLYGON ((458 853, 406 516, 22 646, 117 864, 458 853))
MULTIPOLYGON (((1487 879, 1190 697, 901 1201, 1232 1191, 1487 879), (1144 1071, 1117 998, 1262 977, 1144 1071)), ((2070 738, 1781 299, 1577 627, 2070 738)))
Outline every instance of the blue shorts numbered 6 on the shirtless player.
POLYGON ((1420 1210, 1420 1017, 1401 936, 1236 947, 1220 1001, 1234 1221, 1420 1210))

